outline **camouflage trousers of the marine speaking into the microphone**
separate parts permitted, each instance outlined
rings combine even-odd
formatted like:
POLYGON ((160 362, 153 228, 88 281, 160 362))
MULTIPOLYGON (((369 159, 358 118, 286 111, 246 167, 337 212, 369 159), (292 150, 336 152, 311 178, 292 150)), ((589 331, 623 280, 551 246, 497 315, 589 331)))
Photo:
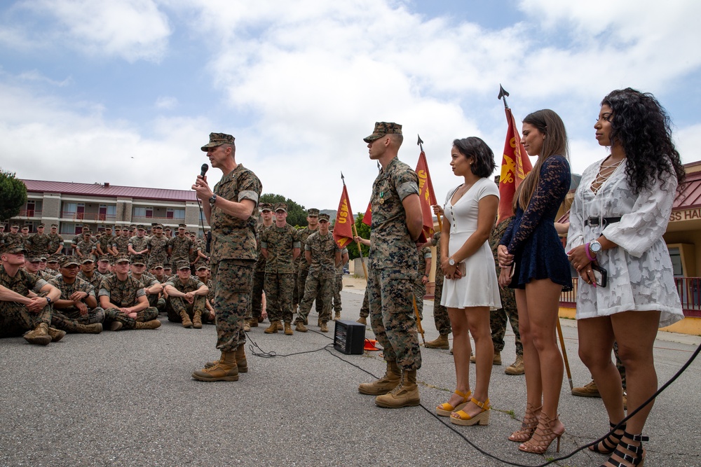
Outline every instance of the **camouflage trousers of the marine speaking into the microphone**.
POLYGON ((236 351, 246 343, 243 321, 251 298, 254 260, 221 260, 212 265, 217 316, 217 349, 236 351))

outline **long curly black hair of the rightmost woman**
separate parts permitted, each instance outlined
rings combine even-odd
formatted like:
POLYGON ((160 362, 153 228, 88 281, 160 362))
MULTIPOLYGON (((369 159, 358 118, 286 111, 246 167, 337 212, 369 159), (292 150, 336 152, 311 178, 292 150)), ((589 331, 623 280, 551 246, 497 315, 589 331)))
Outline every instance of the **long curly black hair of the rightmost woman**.
POLYGON ((611 146, 625 151, 625 175, 635 195, 655 177, 666 183, 674 176, 681 190, 686 172, 672 142, 672 120, 655 96, 632 88, 608 93, 601 105, 611 107, 611 146))

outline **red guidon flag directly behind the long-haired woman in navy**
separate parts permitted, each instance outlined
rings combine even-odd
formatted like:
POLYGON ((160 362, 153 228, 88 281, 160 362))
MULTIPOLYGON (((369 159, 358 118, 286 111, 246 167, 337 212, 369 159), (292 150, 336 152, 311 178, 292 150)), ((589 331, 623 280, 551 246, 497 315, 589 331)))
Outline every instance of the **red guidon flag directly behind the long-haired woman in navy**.
POLYGON ((516 120, 508 107, 506 110, 506 121, 509 128, 506 131, 506 142, 504 144, 504 156, 501 160, 501 176, 499 177, 499 216, 497 223, 503 219, 514 215, 512 202, 516 188, 526 178, 533 166, 526 154, 521 136, 516 130, 516 120))

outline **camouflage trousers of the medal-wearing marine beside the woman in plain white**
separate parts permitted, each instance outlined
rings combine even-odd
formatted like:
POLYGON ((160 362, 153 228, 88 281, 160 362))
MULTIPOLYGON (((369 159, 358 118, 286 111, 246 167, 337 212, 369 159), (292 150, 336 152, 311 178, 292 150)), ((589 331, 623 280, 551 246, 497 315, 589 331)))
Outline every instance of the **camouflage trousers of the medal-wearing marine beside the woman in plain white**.
POLYGON ((370 325, 383 347, 385 361, 404 370, 421 368, 413 284, 416 272, 371 268, 367 281, 370 325))

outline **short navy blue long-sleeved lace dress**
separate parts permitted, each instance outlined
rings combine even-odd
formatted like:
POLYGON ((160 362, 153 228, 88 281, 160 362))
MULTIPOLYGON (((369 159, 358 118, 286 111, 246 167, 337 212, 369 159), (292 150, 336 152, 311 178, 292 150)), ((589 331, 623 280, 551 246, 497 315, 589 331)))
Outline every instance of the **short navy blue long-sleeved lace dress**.
POLYGON ((501 239, 516 262, 510 288, 550 279, 563 291, 572 290, 569 261, 554 226, 570 182, 569 163, 562 155, 552 155, 540 167, 540 180, 526 210, 516 207, 514 220, 501 239))

